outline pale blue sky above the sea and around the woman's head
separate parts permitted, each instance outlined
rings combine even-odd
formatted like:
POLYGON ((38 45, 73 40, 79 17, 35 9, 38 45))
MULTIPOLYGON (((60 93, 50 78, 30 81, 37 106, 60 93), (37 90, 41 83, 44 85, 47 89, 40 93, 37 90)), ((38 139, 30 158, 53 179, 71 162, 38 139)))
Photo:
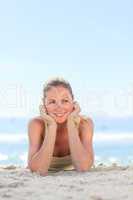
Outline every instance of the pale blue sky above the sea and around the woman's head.
POLYGON ((53 76, 72 84, 83 111, 131 115, 132 7, 131 0, 0 1, 1 115, 34 115, 53 76))

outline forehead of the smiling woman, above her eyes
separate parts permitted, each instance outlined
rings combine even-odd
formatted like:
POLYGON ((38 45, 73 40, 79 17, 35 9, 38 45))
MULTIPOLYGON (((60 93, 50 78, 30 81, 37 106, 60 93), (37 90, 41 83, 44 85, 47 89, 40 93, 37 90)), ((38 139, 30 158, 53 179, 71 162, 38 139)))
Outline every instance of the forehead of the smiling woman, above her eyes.
MULTIPOLYGON (((71 97, 71 93, 67 88, 63 86, 51 87, 50 90, 47 91, 47 98, 57 98, 57 97, 71 97)), ((72 97, 71 97, 72 98, 72 97)))

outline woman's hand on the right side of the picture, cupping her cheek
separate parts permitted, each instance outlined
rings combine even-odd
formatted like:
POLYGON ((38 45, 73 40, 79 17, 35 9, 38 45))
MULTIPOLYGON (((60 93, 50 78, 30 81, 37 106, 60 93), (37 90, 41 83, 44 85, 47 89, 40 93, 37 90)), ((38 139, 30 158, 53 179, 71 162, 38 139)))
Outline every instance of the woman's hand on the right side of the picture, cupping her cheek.
POLYGON ((68 123, 74 122, 76 127, 79 127, 79 123, 80 123, 79 113, 80 113, 80 111, 81 111, 81 109, 80 109, 79 104, 77 102, 74 102, 74 110, 68 116, 68 123))

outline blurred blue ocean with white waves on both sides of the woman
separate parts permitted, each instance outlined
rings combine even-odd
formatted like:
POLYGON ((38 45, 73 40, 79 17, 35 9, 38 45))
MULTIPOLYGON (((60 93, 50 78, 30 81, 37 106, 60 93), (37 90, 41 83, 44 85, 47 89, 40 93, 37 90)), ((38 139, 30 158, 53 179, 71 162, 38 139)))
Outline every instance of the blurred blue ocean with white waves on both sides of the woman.
MULTIPOLYGON (((28 134, 25 118, 0 119, 0 165, 27 165, 28 134)), ((94 119, 95 165, 133 164, 133 118, 94 119)))

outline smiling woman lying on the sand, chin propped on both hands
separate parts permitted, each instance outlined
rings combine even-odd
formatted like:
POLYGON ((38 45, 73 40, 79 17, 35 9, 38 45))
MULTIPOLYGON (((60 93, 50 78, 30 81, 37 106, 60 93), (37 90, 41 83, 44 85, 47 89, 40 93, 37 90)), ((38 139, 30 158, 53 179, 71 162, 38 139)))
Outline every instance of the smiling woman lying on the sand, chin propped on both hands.
POLYGON ((87 171, 94 160, 93 123, 80 114, 70 84, 56 78, 46 83, 40 117, 29 123, 28 167, 47 175, 53 168, 73 166, 87 171))

